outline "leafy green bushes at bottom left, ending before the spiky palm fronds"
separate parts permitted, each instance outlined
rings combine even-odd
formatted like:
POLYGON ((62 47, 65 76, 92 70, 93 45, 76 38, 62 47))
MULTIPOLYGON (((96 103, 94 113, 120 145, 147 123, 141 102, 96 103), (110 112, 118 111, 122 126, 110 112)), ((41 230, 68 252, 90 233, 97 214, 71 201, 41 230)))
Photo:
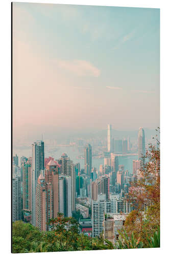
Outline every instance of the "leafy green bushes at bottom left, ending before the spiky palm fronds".
POLYGON ((89 238, 80 233, 79 224, 74 218, 59 215, 51 219, 52 231, 40 232, 36 227, 22 221, 12 224, 12 251, 50 252, 102 249, 103 239, 89 238))

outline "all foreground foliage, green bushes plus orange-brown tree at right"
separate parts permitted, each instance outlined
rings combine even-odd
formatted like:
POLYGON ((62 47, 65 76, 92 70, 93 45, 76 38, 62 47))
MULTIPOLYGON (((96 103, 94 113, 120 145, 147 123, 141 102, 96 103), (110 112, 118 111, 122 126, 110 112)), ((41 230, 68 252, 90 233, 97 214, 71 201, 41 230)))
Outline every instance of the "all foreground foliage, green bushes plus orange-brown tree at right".
POLYGON ((150 145, 140 170, 140 179, 131 184, 127 199, 135 210, 127 217, 124 229, 119 230, 119 240, 113 246, 100 237, 90 238, 80 233, 75 218, 51 219, 52 231, 40 232, 36 227, 22 221, 12 224, 12 252, 50 252, 74 250, 105 250, 124 248, 160 247, 160 150, 159 141, 150 145))

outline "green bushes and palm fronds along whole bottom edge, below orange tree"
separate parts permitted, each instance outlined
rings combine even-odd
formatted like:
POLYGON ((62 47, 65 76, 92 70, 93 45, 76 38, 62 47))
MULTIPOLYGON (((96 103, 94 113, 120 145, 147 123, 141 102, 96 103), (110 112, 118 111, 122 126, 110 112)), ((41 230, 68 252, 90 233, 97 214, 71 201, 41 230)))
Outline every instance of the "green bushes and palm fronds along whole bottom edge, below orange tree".
POLYGON ((54 230, 40 232, 36 227, 22 221, 13 223, 12 252, 50 252, 50 251, 74 251, 74 250, 106 250, 124 248, 159 247, 159 230, 154 236, 147 237, 148 244, 143 243, 132 236, 129 238, 126 231, 120 231, 117 243, 113 244, 101 237, 90 238, 79 233, 79 225, 74 218, 58 217, 51 220, 54 230))

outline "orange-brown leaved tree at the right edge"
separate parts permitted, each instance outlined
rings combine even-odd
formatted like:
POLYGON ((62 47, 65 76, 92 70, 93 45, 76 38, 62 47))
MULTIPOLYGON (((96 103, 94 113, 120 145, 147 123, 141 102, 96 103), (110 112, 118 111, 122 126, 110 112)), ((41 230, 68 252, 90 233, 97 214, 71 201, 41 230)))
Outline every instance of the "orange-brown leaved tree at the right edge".
MULTIPOLYGON (((156 130, 159 132, 159 130, 156 130)), ((128 237, 134 238, 148 247, 148 237, 159 233, 160 226, 160 142, 150 144, 140 168, 140 179, 131 184, 127 199, 133 202, 133 210, 126 219, 128 237)))

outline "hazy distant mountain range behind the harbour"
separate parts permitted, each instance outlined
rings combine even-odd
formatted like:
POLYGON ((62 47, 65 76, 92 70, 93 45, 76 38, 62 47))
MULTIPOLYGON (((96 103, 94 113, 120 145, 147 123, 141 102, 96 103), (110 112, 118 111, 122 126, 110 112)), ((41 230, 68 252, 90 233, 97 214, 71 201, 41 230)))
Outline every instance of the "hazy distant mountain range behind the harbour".
MULTIPOLYGON (((144 128, 145 137, 147 139, 151 139, 155 137, 156 131, 148 128, 144 128)), ((76 140, 78 138, 82 139, 106 139, 107 138, 107 129, 106 130, 98 130, 98 131, 75 131, 70 129, 59 129, 58 127, 34 127, 34 131, 32 129, 23 129, 18 134, 15 133, 15 145, 22 143, 32 143, 36 140, 41 140, 41 135, 43 135, 43 139, 56 139, 58 143, 69 143, 70 140, 76 140)), ((138 131, 117 131, 112 130, 112 135, 115 139, 123 139, 128 138, 130 136, 131 140, 137 140, 138 131)))

